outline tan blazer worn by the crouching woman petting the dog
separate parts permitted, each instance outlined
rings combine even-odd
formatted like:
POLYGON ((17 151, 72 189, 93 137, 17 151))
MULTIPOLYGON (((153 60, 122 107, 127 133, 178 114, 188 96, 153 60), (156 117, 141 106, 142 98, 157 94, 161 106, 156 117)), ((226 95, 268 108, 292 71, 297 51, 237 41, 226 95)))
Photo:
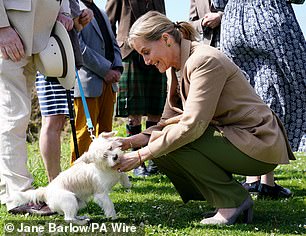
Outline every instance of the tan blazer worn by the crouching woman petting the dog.
POLYGON ((223 53, 183 39, 181 65, 179 95, 176 73, 170 68, 161 121, 143 132, 151 134, 148 147, 154 157, 193 142, 211 124, 256 160, 279 164, 294 159, 279 119, 223 53))

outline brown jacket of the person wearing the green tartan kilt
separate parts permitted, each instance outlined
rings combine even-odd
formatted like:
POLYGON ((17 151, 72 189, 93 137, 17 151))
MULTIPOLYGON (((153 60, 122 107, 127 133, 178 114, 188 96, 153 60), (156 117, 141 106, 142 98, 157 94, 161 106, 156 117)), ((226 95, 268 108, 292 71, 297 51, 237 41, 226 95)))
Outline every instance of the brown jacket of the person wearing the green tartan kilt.
MULTIPOLYGON (((163 14, 166 14, 166 7, 164 0, 152 0, 154 9, 163 14)), ((105 6, 105 11, 111 22, 112 29, 115 35, 117 35, 117 42, 121 50, 122 59, 126 58, 132 51, 127 43, 129 31, 133 23, 143 14, 145 11, 145 1, 138 0, 108 0, 105 6), (116 24, 118 23, 118 30, 116 24)))

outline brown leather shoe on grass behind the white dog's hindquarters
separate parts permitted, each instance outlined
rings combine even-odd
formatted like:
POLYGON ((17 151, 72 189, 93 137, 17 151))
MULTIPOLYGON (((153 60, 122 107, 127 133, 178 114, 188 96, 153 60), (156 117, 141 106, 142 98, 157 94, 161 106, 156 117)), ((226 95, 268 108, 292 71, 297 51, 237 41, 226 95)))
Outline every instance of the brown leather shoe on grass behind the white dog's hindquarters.
POLYGON ((9 213, 12 214, 31 214, 31 215, 40 215, 40 216, 50 216, 56 214, 56 212, 51 211, 46 203, 28 203, 18 207, 15 207, 9 210, 9 213))

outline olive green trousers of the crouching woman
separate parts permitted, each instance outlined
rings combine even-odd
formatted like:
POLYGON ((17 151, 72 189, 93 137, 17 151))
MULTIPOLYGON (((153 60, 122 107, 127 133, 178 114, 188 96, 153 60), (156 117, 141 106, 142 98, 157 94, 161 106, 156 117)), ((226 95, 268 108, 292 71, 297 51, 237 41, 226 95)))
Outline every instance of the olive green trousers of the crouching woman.
POLYGON ((249 194, 232 174, 262 175, 277 166, 244 154, 213 126, 199 139, 154 162, 185 203, 207 200, 216 208, 238 207, 249 194))

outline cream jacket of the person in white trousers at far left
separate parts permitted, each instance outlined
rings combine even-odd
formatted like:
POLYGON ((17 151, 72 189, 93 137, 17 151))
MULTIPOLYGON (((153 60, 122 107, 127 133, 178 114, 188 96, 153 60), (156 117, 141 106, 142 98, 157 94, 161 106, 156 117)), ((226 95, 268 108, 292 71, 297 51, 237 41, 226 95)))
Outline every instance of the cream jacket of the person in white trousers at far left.
MULTIPOLYGON (((0 0, 0 27, 15 28, 30 56, 46 47, 59 9, 57 0, 0 0)), ((61 11, 69 12, 68 0, 61 11)))

